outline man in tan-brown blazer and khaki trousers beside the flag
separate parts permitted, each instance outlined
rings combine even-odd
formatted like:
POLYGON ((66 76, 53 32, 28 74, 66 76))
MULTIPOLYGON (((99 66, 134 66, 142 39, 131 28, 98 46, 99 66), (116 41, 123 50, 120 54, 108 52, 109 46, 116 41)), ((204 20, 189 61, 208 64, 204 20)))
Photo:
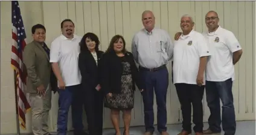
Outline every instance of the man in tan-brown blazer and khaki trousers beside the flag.
POLYGON ((51 90, 55 88, 53 84, 56 81, 51 74, 45 27, 37 24, 31 31, 33 41, 25 46, 23 59, 28 74, 25 92, 31 94, 32 131, 34 135, 50 135, 48 115, 51 109, 51 90))

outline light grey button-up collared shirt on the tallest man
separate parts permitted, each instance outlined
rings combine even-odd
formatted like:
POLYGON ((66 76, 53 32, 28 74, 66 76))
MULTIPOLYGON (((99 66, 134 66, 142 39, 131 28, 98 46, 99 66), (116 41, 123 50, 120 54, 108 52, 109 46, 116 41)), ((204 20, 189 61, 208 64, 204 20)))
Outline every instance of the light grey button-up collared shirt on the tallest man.
POLYGON ((132 39, 132 54, 144 68, 158 68, 167 64, 173 55, 173 43, 167 31, 155 28, 141 29, 132 39))

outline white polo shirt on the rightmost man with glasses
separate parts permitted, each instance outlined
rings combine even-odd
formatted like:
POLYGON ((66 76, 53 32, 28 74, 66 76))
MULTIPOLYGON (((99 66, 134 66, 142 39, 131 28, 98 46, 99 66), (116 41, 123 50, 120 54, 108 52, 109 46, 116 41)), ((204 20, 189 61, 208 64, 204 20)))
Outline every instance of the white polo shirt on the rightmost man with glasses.
POLYGON ((208 41, 212 54, 206 67, 206 80, 213 82, 222 82, 230 78, 234 80, 232 54, 242 49, 235 35, 220 26, 215 32, 205 32, 203 35, 208 41))

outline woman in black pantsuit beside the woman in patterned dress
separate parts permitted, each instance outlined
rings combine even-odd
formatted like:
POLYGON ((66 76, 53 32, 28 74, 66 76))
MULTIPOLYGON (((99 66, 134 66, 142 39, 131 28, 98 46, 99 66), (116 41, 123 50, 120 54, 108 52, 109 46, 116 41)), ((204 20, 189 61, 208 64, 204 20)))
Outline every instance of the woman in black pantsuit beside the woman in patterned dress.
POLYGON ((103 52, 98 50, 97 35, 86 33, 80 42, 78 65, 82 75, 82 92, 90 135, 102 135, 103 92, 100 86, 100 66, 103 52))

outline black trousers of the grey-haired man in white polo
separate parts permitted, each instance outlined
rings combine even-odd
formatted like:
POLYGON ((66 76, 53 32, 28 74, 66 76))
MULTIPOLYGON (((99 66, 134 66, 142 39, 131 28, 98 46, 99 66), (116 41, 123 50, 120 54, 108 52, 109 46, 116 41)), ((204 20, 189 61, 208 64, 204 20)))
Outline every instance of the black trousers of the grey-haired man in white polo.
POLYGON ((182 128, 191 133, 191 104, 193 105, 193 123, 195 132, 203 131, 203 92, 205 86, 176 83, 176 91, 182 110, 182 128))

